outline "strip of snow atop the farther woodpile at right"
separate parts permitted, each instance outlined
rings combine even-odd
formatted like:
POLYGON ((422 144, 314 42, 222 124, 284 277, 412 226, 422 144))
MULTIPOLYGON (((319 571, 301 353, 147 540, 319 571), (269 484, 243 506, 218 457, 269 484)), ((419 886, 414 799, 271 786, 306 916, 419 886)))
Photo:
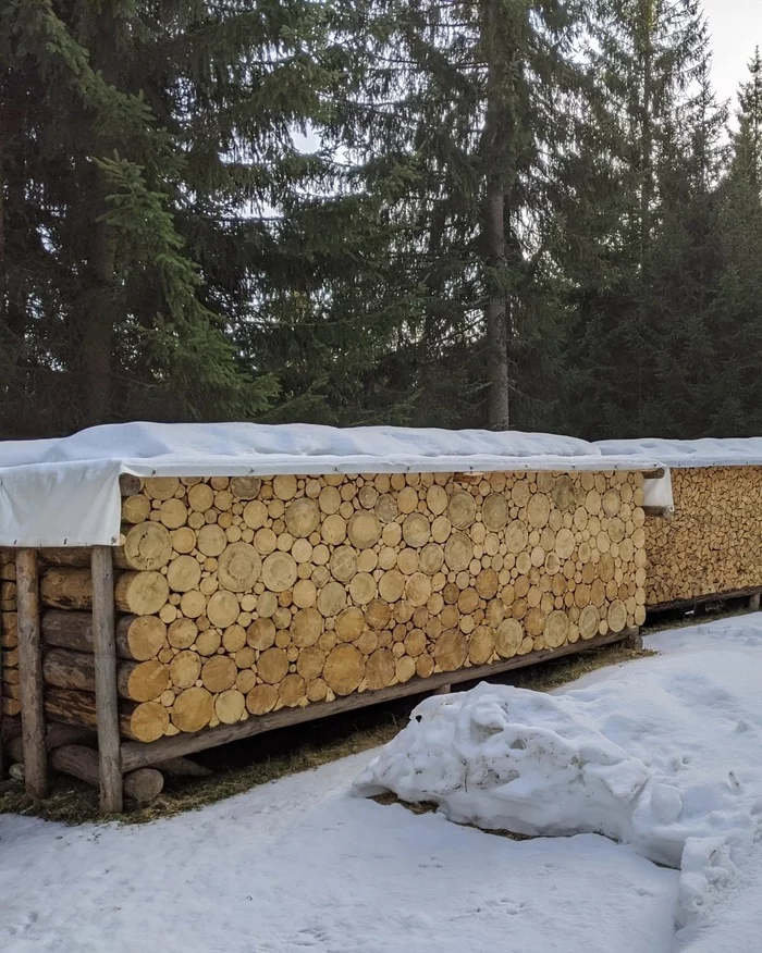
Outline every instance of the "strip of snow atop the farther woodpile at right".
POLYGON ((642 454, 673 469, 762 466, 762 437, 703 437, 698 441, 653 437, 638 441, 598 441, 594 446, 605 456, 642 454))

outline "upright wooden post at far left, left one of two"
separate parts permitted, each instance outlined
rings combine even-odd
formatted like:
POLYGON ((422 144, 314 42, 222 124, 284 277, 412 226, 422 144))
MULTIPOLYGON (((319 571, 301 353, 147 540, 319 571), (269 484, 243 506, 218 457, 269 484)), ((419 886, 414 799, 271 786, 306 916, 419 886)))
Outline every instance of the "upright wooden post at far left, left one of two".
POLYGON ((42 653, 39 627, 39 582, 37 550, 16 554, 16 597, 19 601, 19 688, 24 744, 26 793, 36 801, 48 789, 48 756, 45 746, 42 698, 42 653))

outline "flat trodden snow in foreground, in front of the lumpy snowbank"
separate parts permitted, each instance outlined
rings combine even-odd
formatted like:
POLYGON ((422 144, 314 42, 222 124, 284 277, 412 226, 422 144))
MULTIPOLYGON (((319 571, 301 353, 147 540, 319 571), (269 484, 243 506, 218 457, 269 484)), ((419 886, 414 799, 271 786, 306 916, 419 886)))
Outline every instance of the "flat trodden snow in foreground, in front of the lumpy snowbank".
POLYGON ((369 756, 140 827, 0 816, 0 950, 668 953, 673 870, 352 796, 369 756))

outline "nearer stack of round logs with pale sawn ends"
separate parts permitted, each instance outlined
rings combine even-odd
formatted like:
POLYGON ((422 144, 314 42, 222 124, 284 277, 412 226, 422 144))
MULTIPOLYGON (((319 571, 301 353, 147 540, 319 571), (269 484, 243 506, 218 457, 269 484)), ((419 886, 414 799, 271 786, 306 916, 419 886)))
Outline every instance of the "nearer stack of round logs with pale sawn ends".
MULTIPOLYGON (((644 620, 642 477, 155 478, 115 557, 125 738, 553 649, 644 620)), ((95 723, 87 550, 41 550, 49 718, 95 723)))

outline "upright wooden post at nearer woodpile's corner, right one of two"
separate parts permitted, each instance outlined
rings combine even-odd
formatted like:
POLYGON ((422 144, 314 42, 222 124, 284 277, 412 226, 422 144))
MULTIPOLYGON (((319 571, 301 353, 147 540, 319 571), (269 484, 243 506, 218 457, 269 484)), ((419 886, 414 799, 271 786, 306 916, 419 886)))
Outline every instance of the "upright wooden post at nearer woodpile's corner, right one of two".
POLYGON ((113 554, 109 546, 93 547, 91 572, 100 809, 103 814, 120 814, 122 765, 116 697, 113 554))

